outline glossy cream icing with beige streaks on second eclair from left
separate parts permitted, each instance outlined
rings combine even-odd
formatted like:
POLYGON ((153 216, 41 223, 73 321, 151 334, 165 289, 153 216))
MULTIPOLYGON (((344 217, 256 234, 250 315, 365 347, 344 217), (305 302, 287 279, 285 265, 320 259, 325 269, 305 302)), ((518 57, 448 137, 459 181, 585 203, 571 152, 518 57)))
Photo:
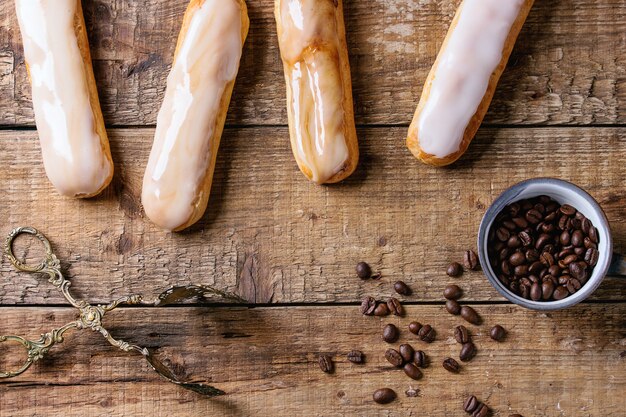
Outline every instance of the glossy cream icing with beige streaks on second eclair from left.
POLYGON ((239 70, 242 13, 238 0, 202 3, 168 76, 142 192, 146 214, 166 230, 188 222, 202 198, 222 97, 239 70))

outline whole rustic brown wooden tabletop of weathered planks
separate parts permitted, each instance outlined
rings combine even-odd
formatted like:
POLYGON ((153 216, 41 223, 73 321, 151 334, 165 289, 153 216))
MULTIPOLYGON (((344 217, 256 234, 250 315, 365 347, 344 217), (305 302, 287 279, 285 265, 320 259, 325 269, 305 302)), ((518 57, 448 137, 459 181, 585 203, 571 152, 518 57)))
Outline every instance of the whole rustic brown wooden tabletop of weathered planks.
MULTIPOLYGON (((0 416, 461 416, 473 393, 494 415, 623 416, 626 287, 607 278, 587 302, 552 313, 505 303, 481 272, 451 279, 447 263, 475 246, 486 207, 506 187, 555 176, 586 188, 626 252, 626 4, 538 0, 485 124, 453 167, 418 163, 408 123, 458 0, 345 1, 361 161, 342 184, 319 187, 291 155, 272 0, 249 0, 250 35, 202 221, 178 234, 142 214, 140 185, 186 0, 84 1, 100 100, 117 173, 96 199, 59 197, 46 179, 13 2, 0 3, 0 232, 33 225, 53 241, 74 293, 106 302, 174 284, 236 291, 254 308, 126 308, 115 335, 148 347, 189 379, 228 392, 204 399, 164 382, 136 356, 91 332, 0 382, 0 416), (357 261, 382 273, 355 277, 357 261), (365 295, 386 298, 406 281, 407 316, 366 318, 365 295), (484 324, 478 356, 460 375, 441 292, 465 290, 484 324), (411 338, 411 320, 437 341, 411 338), (432 359, 421 381, 385 362, 380 332, 393 322, 432 359), (509 330, 503 343, 489 326, 509 330), (367 364, 345 360, 361 349, 367 364), (323 374, 320 353, 334 356, 323 374), (399 398, 372 402, 389 386, 399 398), (418 397, 407 397, 409 388, 418 397)), ((34 257, 35 246, 22 250, 34 257)), ((0 263, 0 334, 36 338, 74 317, 44 279, 0 263)), ((6 362, 7 355, 3 361, 6 362)))

